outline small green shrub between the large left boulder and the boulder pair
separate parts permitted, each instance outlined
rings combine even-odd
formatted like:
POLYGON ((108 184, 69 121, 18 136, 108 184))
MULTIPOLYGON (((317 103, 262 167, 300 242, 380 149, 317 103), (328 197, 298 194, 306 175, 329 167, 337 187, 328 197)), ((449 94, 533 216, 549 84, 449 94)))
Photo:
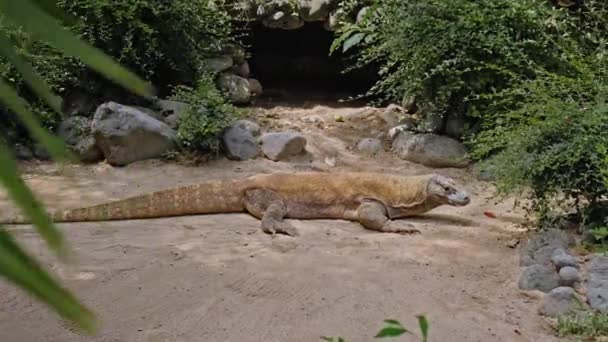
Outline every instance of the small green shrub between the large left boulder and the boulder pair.
POLYGON ((222 131, 239 115, 226 102, 211 76, 202 77, 196 88, 178 86, 172 99, 189 104, 179 118, 177 137, 181 147, 190 152, 217 153, 222 131))

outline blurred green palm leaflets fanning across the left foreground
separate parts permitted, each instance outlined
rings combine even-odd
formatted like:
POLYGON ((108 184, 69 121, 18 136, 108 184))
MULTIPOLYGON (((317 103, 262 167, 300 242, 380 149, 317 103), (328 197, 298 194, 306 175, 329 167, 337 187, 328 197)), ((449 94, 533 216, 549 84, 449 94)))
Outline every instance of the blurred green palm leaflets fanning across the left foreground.
MULTIPOLYGON (((149 97, 152 87, 138 76, 121 67, 100 50, 81 41, 62 25, 74 18, 62 13, 50 0, 3 0, 0 1, 1 20, 21 27, 37 40, 44 41, 64 54, 80 59, 91 69, 130 91, 149 97)), ((20 73, 29 88, 56 112, 60 112, 60 98, 56 96, 33 71, 31 65, 16 53, 11 40, 0 35, 0 53, 20 73)), ((63 142, 40 126, 32 114, 30 104, 8 85, 0 81, 0 101, 18 115, 31 136, 48 150, 54 160, 73 160, 63 142)), ((57 227, 20 177, 9 146, 0 141, 0 182, 10 198, 20 207, 37 228, 48 246, 63 261, 68 261, 68 246, 57 227)), ((86 332, 93 333, 96 320, 91 311, 83 306, 69 291, 47 273, 6 231, 0 227, 0 274, 31 295, 52 307, 65 319, 77 324, 86 332)))

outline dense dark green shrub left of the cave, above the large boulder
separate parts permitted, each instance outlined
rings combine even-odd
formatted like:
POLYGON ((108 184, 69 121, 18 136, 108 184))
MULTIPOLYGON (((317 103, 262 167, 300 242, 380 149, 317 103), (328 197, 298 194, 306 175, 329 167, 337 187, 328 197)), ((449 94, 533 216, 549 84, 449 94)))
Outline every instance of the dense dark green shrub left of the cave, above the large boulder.
POLYGON ((190 83, 203 61, 231 41, 223 0, 61 0, 74 30, 157 85, 190 83))

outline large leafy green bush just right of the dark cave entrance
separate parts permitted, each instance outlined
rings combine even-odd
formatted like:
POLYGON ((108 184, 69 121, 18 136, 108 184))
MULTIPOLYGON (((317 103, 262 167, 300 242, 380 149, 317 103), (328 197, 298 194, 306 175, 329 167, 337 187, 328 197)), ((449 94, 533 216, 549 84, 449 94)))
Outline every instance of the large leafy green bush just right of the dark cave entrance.
POLYGON ((359 65, 384 66, 369 95, 415 102, 428 116, 470 114, 538 70, 569 71, 546 29, 553 11, 535 0, 374 1, 338 41, 355 39, 359 65))

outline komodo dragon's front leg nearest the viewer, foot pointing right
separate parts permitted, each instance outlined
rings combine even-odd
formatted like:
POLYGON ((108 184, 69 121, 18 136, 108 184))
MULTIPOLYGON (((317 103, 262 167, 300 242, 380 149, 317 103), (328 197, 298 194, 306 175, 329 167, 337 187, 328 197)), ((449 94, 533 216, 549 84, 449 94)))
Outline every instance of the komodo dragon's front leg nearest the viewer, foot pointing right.
POLYGON ((409 224, 406 224, 407 227, 396 225, 388 218, 386 207, 376 201, 362 203, 357 209, 357 215, 361 225, 367 229, 383 233, 420 234, 418 229, 409 224))

